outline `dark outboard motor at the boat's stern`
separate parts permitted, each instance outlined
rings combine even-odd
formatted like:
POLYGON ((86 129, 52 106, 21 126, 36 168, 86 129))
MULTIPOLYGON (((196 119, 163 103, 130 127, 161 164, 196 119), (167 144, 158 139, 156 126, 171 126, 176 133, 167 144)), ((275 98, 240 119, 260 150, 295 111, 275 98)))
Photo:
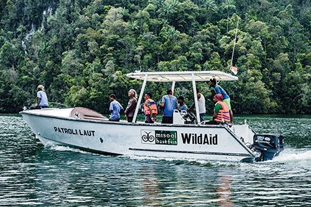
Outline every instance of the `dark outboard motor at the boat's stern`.
POLYGON ((270 160, 283 151, 283 136, 271 134, 254 135, 253 147, 260 155, 255 158, 255 161, 270 160))

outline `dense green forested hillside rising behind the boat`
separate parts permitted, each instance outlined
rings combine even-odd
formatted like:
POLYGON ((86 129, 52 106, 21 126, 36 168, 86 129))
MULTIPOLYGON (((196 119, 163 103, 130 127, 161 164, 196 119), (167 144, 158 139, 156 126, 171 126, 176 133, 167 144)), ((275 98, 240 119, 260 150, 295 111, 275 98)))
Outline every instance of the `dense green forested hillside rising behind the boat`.
MULTIPOLYGON (((0 0, 0 112, 49 101, 107 112, 115 93, 141 82, 126 73, 221 70, 235 113, 311 113, 311 1, 0 0)), ((160 99, 169 85, 149 83, 160 99)), ((210 99, 206 83, 199 90, 210 99)), ((175 95, 191 105, 187 83, 175 95)), ((208 112, 214 106, 207 101, 208 112)))

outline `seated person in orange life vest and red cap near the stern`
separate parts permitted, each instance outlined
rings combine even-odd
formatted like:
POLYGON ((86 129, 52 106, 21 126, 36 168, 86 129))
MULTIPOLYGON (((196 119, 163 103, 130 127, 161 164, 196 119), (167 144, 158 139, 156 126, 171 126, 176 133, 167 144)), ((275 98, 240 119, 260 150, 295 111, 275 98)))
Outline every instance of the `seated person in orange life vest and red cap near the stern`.
POLYGON ((221 94, 214 95, 213 101, 216 102, 213 120, 208 121, 206 124, 220 124, 220 122, 222 121, 229 122, 230 121, 229 108, 227 106, 227 103, 223 101, 223 95, 221 94))

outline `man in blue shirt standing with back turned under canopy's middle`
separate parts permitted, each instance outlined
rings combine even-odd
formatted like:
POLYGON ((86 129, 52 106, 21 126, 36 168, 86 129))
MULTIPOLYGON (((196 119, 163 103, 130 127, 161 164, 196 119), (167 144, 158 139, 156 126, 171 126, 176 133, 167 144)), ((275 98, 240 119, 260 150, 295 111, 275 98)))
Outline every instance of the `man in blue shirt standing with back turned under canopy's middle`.
POLYGON ((163 110, 162 124, 173 124, 173 112, 178 108, 177 98, 173 96, 171 89, 167 90, 167 95, 162 97, 160 104, 163 110))

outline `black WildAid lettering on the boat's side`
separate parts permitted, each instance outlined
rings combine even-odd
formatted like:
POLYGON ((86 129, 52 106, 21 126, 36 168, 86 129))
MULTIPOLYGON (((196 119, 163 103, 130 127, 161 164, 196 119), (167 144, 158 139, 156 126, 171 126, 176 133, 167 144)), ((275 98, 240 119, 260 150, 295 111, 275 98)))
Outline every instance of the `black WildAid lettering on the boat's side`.
POLYGON ((212 134, 196 134, 196 133, 181 133, 183 144, 208 144, 218 145, 218 135, 212 134))

